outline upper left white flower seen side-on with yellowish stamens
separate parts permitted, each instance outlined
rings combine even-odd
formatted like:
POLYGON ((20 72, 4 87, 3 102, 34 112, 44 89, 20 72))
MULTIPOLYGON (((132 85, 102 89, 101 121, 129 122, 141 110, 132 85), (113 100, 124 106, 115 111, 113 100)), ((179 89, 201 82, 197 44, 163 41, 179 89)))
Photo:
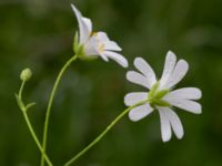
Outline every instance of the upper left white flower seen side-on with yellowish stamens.
POLYGON ((115 52, 122 49, 114 41, 111 41, 107 33, 92 32, 91 20, 82 17, 81 12, 73 4, 71 4, 71 7, 79 23, 78 48, 83 49, 83 55, 87 58, 99 55, 107 62, 109 59, 112 59, 123 68, 127 68, 127 59, 115 52))

